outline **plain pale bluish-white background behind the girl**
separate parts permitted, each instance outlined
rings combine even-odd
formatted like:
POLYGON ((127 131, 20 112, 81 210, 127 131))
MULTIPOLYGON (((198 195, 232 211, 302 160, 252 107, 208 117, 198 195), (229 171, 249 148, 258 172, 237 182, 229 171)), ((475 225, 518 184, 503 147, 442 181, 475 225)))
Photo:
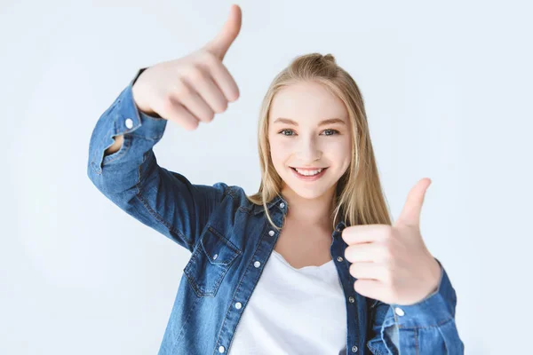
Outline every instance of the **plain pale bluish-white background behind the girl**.
MULTIPOLYGON (((190 253, 87 177, 100 114, 140 67, 211 40, 229 1, 3 1, 0 353, 155 354, 190 253)), ((467 354, 530 350, 531 5, 240 1, 224 64, 241 97, 158 162, 193 183, 259 188, 257 122, 294 57, 332 53, 362 90, 398 217, 422 177, 422 234, 456 288, 467 354)))

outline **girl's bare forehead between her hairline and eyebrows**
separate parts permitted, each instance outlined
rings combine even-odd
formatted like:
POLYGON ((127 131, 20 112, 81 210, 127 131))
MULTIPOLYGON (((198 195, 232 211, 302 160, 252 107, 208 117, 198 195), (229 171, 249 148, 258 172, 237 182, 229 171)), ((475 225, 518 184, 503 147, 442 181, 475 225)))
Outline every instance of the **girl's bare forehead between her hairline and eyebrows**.
POLYGON ((278 91, 272 99, 269 120, 278 117, 297 122, 320 122, 338 117, 347 122, 346 106, 322 84, 315 82, 294 83, 278 91))

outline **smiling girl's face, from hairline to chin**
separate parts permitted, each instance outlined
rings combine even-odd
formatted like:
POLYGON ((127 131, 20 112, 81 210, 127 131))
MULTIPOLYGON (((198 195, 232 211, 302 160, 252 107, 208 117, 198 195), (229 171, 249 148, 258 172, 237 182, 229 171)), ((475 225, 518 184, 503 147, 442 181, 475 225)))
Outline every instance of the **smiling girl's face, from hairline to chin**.
POLYGON ((333 193, 352 154, 344 103, 319 83, 296 83, 274 96, 268 120, 270 154, 283 189, 306 199, 333 193), (307 174, 324 170, 302 177, 295 168, 307 174))

